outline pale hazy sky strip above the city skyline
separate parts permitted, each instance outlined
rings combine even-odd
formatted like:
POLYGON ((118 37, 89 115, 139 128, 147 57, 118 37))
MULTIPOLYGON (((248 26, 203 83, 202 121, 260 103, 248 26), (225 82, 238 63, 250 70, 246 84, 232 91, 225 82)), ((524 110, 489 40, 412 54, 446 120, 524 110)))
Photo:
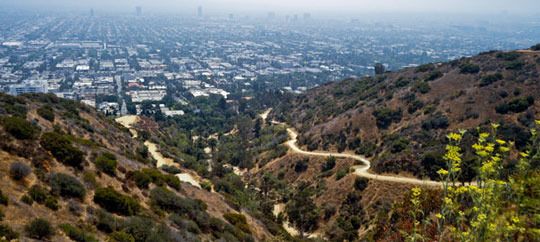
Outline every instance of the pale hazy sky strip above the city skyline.
POLYGON ((132 11, 137 5, 146 11, 194 13, 203 6, 206 13, 362 13, 362 12, 448 12, 448 13, 540 13, 540 0, 0 0, 4 7, 38 7, 132 11))

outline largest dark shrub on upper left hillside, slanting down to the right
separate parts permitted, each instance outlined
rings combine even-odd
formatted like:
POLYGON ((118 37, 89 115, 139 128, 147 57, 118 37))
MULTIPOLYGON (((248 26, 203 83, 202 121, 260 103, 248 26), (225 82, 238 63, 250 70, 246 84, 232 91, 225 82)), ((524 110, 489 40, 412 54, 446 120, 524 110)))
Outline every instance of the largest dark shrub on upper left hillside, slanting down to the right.
POLYGON ((84 153, 79 148, 72 146, 71 141, 59 133, 44 133, 41 135, 40 143, 63 164, 80 167, 84 161, 84 153))

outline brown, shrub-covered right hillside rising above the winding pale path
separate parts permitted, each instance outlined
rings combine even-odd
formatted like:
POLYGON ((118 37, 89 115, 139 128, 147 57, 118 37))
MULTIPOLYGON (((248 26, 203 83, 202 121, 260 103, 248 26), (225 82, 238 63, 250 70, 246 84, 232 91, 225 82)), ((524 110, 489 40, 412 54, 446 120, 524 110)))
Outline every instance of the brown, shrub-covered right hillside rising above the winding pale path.
POLYGON ((539 71, 540 52, 492 51, 331 82, 284 98, 270 115, 296 127, 306 150, 355 152, 370 157, 376 173, 438 179, 450 131, 498 122, 505 140, 525 148, 526 128, 539 117, 539 71))

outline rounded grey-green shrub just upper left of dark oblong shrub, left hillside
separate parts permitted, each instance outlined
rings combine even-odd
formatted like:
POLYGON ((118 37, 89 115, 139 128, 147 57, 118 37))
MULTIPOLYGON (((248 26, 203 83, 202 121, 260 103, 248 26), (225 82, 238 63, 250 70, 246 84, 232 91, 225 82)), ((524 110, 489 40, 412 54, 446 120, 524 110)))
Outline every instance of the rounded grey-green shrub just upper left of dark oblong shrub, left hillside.
POLYGON ((86 194, 84 185, 79 182, 77 178, 67 174, 52 174, 49 177, 49 186, 51 186, 51 193, 63 197, 75 197, 82 199, 86 194))

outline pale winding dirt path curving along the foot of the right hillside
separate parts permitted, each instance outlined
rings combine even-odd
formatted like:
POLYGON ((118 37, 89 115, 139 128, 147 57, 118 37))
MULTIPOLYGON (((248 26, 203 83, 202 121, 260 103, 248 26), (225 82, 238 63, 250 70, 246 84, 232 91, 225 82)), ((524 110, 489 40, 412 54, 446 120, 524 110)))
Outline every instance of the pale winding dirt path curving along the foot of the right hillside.
POLYGON ((398 182, 398 183, 407 183, 407 184, 414 184, 414 185, 423 185, 423 186, 442 186, 441 182, 436 181, 430 181, 430 180, 420 180, 416 178, 407 178, 407 177, 398 177, 398 176, 385 176, 385 175, 377 175, 372 174, 368 170, 371 167, 371 162, 367 160, 366 158, 359 156, 359 155, 352 155, 352 154, 345 154, 345 153, 328 153, 328 152, 309 152, 309 151, 303 151, 298 146, 296 146, 296 141, 298 134, 290 129, 287 128, 287 132, 289 133, 289 137, 291 138, 289 141, 287 141, 287 145, 291 150, 295 153, 304 154, 304 155, 311 155, 311 156, 324 156, 324 157, 337 157, 337 158, 352 158, 358 161, 361 161, 364 163, 363 166, 354 166, 354 174, 374 179, 378 181, 389 181, 389 182, 398 182))

